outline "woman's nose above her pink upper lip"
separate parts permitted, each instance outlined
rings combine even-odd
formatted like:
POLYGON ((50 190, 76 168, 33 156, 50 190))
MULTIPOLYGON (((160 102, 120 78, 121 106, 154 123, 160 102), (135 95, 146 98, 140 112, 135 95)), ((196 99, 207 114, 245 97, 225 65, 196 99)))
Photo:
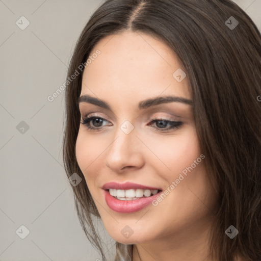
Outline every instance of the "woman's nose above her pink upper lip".
POLYGON ((106 166, 116 173, 125 169, 139 169, 144 164, 142 142, 136 136, 135 128, 128 134, 119 127, 107 150, 106 166))

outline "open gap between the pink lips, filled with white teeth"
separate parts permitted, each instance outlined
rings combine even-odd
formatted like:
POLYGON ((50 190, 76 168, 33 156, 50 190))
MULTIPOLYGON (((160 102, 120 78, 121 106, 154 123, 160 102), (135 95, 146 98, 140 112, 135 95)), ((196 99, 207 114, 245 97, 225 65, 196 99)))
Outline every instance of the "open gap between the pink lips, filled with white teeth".
POLYGON ((140 198, 147 198, 158 194, 161 190, 142 190, 142 189, 129 189, 129 190, 117 190, 108 189, 106 190, 111 196, 118 200, 137 200, 140 198))

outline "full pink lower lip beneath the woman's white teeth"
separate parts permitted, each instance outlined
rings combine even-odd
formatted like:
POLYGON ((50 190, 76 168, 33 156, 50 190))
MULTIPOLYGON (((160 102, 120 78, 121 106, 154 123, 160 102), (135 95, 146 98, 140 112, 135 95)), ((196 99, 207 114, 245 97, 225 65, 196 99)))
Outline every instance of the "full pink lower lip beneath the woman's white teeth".
POLYGON ((134 200, 119 200, 113 197, 109 193, 109 191, 104 191, 107 205, 113 211, 120 213, 132 213, 142 210, 144 207, 148 206, 153 200, 155 200, 161 192, 150 197, 144 197, 134 200))

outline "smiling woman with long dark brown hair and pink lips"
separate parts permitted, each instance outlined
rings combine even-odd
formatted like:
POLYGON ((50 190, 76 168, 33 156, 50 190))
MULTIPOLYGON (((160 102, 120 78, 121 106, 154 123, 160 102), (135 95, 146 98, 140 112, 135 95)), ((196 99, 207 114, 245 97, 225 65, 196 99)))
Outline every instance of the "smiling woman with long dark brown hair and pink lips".
POLYGON ((102 260, 95 217, 115 261, 261 260, 260 54, 229 0, 95 11, 68 71, 63 155, 102 260))

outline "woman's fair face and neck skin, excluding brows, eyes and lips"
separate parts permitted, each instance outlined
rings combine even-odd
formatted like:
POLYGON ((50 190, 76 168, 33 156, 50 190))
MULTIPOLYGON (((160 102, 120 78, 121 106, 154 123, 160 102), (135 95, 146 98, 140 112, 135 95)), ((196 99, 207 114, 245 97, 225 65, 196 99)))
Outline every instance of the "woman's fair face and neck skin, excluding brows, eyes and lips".
POLYGON ((208 244, 217 196, 207 179, 204 160, 157 206, 150 204, 135 213, 111 210, 101 189, 110 181, 130 181, 164 191, 202 154, 191 105, 169 102, 138 108, 140 101, 163 95, 192 100, 188 77, 177 82, 172 76, 178 68, 185 71, 182 63, 165 43, 140 32, 103 38, 91 54, 96 49, 101 54, 86 67, 80 96, 105 100, 112 111, 80 103, 82 120, 85 114, 105 120, 100 125, 90 122, 101 126, 96 127, 101 131, 79 123, 75 149, 105 228, 114 240, 136 245, 134 261, 173 257, 175 261, 210 261, 208 244), (154 117, 183 124, 161 132, 160 124, 149 125, 154 117), (134 126, 127 135, 120 128, 126 120, 134 126), (129 238, 121 233, 126 225, 133 230, 129 238))

